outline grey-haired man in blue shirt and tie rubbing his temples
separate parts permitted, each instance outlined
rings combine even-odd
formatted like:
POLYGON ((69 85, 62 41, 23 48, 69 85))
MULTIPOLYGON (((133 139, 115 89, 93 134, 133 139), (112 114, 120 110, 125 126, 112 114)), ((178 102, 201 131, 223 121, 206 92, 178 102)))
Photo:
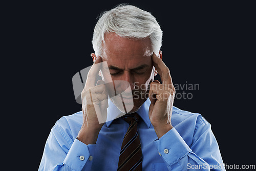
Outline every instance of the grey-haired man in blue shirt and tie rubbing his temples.
POLYGON ((149 12, 120 5, 101 15, 82 111, 56 122, 39 170, 225 170, 210 124, 173 106, 161 41, 149 12))

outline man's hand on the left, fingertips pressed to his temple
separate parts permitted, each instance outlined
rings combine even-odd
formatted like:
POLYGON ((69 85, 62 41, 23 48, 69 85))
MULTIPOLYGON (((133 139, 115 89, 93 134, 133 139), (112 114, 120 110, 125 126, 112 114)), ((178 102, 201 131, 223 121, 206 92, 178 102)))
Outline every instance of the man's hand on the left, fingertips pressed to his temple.
POLYGON ((83 122, 77 139, 85 144, 95 144, 105 122, 108 108, 108 94, 102 80, 95 86, 96 76, 102 68, 102 58, 98 57, 90 69, 86 85, 81 93, 83 122))

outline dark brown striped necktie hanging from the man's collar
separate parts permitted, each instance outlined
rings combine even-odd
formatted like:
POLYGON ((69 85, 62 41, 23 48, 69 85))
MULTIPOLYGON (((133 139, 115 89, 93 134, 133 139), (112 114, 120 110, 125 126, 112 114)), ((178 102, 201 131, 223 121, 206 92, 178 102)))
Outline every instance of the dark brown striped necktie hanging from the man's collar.
POLYGON ((122 118, 129 123, 129 128, 123 138, 117 170, 142 170, 142 152, 137 129, 140 117, 134 113, 126 114, 122 118))

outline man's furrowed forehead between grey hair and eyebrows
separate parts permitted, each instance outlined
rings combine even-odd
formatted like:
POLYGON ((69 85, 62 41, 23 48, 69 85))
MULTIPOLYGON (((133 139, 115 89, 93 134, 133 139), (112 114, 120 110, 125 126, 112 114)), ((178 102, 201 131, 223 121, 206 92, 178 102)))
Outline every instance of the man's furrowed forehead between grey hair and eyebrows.
POLYGON ((102 58, 105 60, 135 60, 152 55, 151 40, 120 37, 115 33, 105 34, 102 58))

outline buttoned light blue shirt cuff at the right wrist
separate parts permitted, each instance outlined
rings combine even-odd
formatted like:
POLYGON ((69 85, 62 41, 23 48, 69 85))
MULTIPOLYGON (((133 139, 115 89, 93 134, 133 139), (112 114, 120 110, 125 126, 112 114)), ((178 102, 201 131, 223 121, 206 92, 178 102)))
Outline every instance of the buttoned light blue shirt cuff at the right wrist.
POLYGON ((168 165, 172 165, 190 151, 189 146, 174 127, 154 143, 168 165))

